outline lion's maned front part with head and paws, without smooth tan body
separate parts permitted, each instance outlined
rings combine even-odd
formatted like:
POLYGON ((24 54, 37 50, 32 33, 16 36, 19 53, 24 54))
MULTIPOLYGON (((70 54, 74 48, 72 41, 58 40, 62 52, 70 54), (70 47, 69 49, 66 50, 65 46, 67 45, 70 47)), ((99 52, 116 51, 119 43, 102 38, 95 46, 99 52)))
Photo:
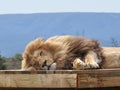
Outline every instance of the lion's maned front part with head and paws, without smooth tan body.
POLYGON ((102 61, 102 48, 97 40, 81 36, 53 36, 47 40, 35 39, 26 46, 22 69, 90 69, 100 68, 102 61))

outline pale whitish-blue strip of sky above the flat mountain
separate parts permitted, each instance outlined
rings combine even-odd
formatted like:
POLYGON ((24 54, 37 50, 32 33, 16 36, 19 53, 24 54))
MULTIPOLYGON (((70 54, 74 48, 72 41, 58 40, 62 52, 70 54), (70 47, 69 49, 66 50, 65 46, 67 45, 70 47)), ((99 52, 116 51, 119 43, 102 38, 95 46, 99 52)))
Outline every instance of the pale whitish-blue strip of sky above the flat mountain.
POLYGON ((49 12, 120 13, 120 0, 0 0, 0 14, 49 12))

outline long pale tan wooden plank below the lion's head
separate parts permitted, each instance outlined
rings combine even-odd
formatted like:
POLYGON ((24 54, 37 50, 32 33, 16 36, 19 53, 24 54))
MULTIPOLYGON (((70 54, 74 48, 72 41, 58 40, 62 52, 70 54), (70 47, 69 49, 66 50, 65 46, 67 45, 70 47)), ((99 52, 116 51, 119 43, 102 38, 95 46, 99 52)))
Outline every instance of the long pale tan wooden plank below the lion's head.
POLYGON ((0 74, 0 87, 76 88, 77 74, 0 74))

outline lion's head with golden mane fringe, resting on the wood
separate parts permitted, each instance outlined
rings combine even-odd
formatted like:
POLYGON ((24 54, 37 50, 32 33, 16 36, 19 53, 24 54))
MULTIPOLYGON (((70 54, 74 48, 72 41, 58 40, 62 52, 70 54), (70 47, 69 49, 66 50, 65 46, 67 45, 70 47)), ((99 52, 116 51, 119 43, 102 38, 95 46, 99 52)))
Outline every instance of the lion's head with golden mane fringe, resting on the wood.
POLYGON ((30 42, 23 53, 22 69, 46 70, 54 63, 52 50, 42 39, 30 42))

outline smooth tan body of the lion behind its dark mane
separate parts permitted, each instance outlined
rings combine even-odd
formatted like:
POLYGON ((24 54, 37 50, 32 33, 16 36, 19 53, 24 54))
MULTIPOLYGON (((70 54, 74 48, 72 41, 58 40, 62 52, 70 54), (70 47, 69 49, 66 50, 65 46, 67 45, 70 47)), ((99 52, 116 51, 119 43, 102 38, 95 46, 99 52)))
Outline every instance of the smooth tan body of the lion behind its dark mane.
POLYGON ((120 68, 120 47, 103 47, 103 54, 101 68, 120 68))

